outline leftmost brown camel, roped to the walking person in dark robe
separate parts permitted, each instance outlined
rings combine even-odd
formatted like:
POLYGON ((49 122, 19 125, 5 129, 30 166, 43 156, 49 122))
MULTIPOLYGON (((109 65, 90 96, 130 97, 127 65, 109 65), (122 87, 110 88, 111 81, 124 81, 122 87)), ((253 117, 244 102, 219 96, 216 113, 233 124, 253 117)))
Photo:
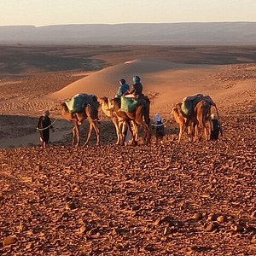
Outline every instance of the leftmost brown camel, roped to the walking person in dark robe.
POLYGON ((89 102, 85 104, 84 111, 82 113, 71 113, 67 108, 66 102, 61 103, 61 115, 63 118, 73 121, 73 142, 72 145, 79 146, 80 143, 80 131, 79 126, 82 125, 85 119, 89 122, 89 131, 87 139, 84 145, 87 145, 90 139, 92 129, 96 131, 96 146, 100 144, 100 130, 98 127, 98 108, 99 103, 97 102, 97 97, 94 95, 87 95, 89 102))

